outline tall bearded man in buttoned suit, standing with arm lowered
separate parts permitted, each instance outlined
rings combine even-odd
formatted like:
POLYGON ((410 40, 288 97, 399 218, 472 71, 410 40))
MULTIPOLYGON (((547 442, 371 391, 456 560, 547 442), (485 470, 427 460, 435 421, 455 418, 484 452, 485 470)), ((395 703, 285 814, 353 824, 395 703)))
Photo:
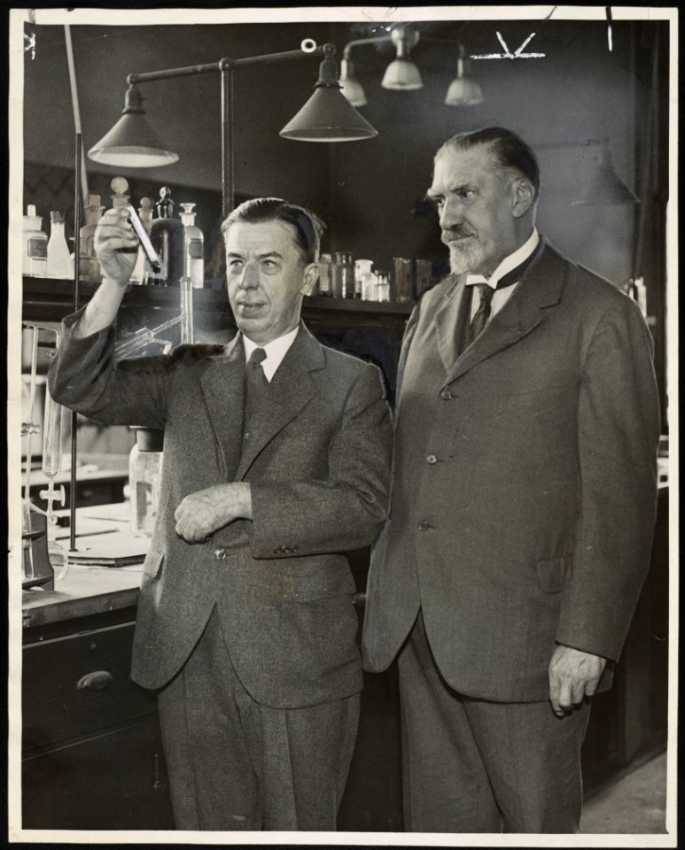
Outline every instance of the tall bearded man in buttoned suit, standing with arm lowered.
POLYGON ((399 653, 414 831, 578 830, 589 698, 649 566, 650 333, 538 235, 539 186, 533 151, 502 128, 435 158, 452 275, 403 342, 363 638, 369 669, 399 653))

